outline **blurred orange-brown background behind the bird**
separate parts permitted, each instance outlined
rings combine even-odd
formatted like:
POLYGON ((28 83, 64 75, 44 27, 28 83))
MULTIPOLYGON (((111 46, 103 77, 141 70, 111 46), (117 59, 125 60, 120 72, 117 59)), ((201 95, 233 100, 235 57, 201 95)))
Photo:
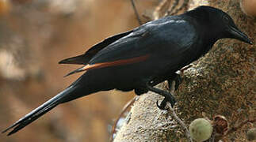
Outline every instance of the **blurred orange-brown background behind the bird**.
MULTIPOLYGON (((136 1, 151 13, 159 0, 136 1)), ((0 0, 0 129, 61 92, 79 65, 58 65, 107 36, 138 26, 129 0, 0 0)), ((108 141, 133 92, 99 92, 56 107, 0 141, 108 141)))

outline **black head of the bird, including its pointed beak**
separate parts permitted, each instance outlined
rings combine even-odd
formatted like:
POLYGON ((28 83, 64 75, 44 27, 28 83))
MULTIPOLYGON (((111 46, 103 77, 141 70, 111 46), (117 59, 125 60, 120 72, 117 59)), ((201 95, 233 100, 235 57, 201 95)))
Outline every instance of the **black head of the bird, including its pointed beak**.
POLYGON ((190 11, 190 15, 203 21, 202 23, 206 24, 205 28, 215 34, 216 39, 232 38, 252 44, 248 36, 237 28, 232 18, 220 9, 211 6, 199 6, 190 11))

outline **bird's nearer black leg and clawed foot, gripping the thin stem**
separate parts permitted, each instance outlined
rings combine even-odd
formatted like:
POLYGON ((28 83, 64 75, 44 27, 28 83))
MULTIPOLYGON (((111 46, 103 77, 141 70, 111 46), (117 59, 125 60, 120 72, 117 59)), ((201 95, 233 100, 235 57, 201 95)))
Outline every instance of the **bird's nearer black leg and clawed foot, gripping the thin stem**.
POLYGON ((172 107, 174 107, 174 104, 176 103, 174 95, 172 95, 170 92, 165 92, 159 88, 154 88, 151 85, 147 84, 147 89, 151 92, 158 93, 159 95, 164 96, 164 99, 159 105, 159 101, 157 101, 157 107, 159 107, 160 110, 166 110, 166 103, 169 102, 172 107))

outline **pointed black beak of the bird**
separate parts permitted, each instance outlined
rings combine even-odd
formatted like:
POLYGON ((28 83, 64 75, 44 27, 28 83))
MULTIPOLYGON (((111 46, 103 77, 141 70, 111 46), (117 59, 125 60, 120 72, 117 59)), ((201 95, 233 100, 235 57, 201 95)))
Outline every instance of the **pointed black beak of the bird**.
POLYGON ((248 38, 248 36, 246 36, 246 34, 241 32, 238 28, 230 27, 229 32, 231 33, 232 38, 239 39, 245 43, 253 44, 248 38))

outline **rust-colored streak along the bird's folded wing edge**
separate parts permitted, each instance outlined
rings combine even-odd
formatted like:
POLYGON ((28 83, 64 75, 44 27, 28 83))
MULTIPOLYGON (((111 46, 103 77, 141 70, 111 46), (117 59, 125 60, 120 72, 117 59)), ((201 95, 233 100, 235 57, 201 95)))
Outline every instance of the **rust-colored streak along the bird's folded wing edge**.
POLYGON ((74 73, 79 73, 82 71, 86 71, 89 69, 100 69, 100 68, 105 68, 105 67, 109 67, 109 66, 117 66, 117 65, 127 65, 127 64, 132 64, 132 63, 136 63, 136 62, 143 62, 145 61, 147 58, 149 58, 149 54, 143 55, 143 56, 139 56, 136 58, 128 58, 128 59, 123 59, 123 60, 117 60, 117 61, 113 61, 113 62, 102 62, 102 63, 97 63, 94 65, 85 65, 79 69, 75 69, 73 72, 68 73, 66 76, 70 76, 71 74, 74 73))

